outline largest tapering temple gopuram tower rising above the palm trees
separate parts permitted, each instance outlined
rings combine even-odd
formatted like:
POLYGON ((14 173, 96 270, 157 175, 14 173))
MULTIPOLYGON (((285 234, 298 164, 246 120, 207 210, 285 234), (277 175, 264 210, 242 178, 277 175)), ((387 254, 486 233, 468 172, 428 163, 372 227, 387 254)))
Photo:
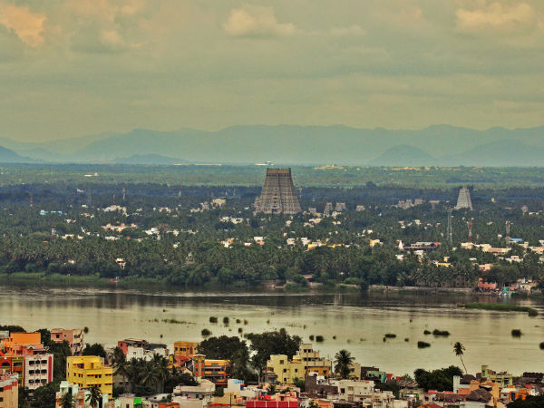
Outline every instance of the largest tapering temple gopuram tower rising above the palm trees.
POLYGON ((260 197, 255 199, 255 212, 296 214, 301 212, 291 169, 267 169, 267 179, 260 197))

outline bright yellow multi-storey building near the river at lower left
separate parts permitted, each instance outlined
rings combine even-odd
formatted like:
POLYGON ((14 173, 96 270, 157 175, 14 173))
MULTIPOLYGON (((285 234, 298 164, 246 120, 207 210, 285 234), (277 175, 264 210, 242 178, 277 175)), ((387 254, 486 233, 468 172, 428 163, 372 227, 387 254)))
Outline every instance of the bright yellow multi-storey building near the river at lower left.
POLYGON ((113 369, 104 365, 102 357, 95 355, 66 357, 66 380, 83 389, 97 385, 102 393, 107 393, 112 398, 113 369))

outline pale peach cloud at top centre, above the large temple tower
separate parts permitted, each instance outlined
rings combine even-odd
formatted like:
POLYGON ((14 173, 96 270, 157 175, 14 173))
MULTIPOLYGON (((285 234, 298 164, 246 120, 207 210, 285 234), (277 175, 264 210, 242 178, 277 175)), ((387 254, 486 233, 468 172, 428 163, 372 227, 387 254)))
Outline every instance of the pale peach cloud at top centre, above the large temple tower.
POLYGON ((272 7, 251 6, 230 11, 223 28, 232 36, 281 36, 296 33, 295 24, 279 23, 272 7))

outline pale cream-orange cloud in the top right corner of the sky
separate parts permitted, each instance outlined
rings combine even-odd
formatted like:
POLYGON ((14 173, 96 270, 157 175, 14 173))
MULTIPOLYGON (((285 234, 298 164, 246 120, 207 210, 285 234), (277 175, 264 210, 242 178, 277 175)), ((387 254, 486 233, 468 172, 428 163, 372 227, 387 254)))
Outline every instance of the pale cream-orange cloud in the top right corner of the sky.
POLYGON ((460 8, 455 15, 457 29, 466 32, 523 33, 531 32, 538 24, 537 13, 528 3, 495 2, 474 10, 460 8))

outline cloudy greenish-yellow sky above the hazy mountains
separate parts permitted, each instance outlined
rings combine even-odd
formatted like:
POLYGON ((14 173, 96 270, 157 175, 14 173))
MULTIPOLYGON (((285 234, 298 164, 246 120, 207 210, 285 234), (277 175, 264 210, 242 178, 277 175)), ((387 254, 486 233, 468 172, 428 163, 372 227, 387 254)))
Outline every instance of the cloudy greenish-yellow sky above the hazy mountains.
POLYGON ((0 0, 0 137, 544 124, 542 0, 0 0))

